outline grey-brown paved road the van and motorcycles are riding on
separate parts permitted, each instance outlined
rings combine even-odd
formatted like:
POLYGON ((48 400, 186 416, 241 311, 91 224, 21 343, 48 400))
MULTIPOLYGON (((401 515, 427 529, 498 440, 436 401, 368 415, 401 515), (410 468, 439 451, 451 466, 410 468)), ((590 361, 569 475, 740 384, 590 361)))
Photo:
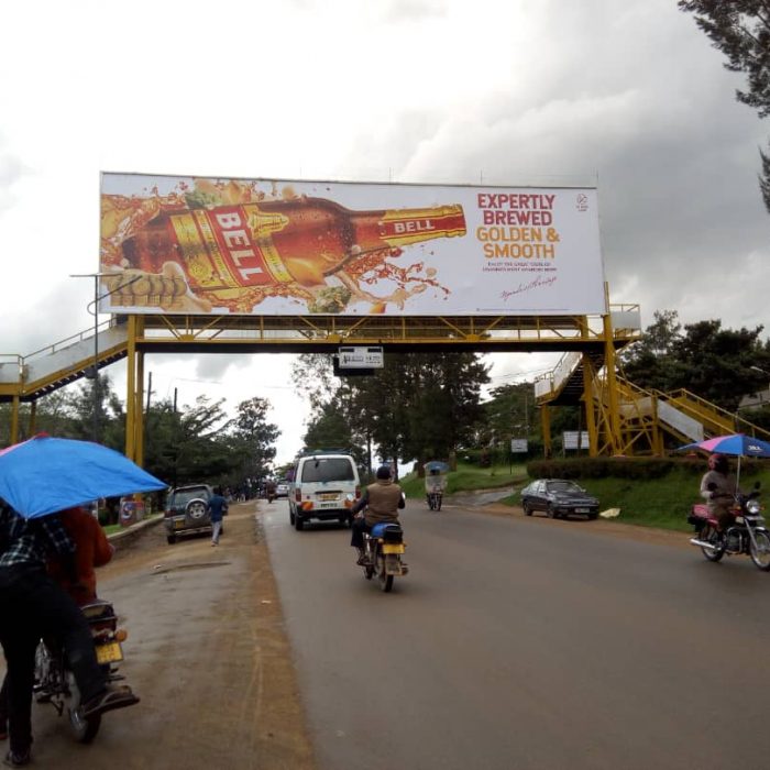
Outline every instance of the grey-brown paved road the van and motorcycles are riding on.
POLYGON ((383 594, 346 530, 263 520, 323 770, 768 767, 770 575, 747 559, 415 502, 383 594))

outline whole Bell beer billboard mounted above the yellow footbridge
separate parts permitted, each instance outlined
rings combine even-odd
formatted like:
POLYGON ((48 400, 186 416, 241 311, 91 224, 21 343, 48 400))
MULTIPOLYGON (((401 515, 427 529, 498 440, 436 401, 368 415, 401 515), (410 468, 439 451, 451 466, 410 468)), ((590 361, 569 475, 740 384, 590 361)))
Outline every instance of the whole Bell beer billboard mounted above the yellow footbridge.
POLYGON ((594 188, 101 175, 105 312, 606 312, 594 188))

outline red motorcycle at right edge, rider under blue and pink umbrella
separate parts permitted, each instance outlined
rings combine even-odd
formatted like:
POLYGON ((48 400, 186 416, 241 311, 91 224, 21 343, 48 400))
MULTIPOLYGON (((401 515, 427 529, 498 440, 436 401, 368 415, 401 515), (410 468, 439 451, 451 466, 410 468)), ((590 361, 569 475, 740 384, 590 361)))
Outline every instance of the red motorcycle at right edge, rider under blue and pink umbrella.
POLYGON ((708 561, 721 561, 728 556, 746 554, 751 557, 757 569, 770 571, 770 532, 765 527, 762 506, 759 501, 759 483, 746 495, 735 495, 735 524, 722 532, 716 517, 708 506, 693 505, 688 522, 695 528, 696 536, 690 542, 703 551, 708 561))

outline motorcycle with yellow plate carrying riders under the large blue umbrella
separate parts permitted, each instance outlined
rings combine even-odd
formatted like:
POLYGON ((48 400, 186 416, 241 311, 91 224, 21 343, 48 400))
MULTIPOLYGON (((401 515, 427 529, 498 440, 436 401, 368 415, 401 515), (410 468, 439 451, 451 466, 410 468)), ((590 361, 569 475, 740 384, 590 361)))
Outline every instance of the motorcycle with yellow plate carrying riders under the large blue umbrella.
MULTIPOLYGON (((97 661, 103 668, 108 682, 125 679, 118 673, 123 660, 121 642, 128 634, 118 628, 118 618, 110 602, 96 600, 80 607, 94 636, 97 661)), ((89 744, 101 725, 101 715, 84 717, 80 712, 80 693, 75 676, 69 670, 64 649, 41 639, 35 650, 35 674, 33 694, 37 703, 50 703, 59 716, 65 712, 70 732, 80 744, 89 744)))

